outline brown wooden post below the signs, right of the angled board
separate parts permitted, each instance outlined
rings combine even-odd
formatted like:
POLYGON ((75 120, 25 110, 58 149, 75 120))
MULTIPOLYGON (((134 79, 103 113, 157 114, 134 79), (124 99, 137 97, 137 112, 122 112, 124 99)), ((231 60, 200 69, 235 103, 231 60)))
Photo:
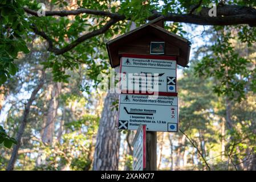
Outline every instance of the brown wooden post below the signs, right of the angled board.
POLYGON ((156 171, 156 160, 157 160, 157 155, 156 155, 156 131, 146 131, 146 171, 156 171))

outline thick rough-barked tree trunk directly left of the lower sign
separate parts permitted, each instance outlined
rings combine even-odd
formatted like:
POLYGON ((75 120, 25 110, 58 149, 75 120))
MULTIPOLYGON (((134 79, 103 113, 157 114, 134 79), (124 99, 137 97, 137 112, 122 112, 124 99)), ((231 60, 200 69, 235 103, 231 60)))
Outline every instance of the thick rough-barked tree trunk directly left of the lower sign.
POLYGON ((116 93, 108 93, 105 98, 97 133, 93 170, 118 169, 120 133, 116 128, 118 112, 112 105, 117 99, 116 93))

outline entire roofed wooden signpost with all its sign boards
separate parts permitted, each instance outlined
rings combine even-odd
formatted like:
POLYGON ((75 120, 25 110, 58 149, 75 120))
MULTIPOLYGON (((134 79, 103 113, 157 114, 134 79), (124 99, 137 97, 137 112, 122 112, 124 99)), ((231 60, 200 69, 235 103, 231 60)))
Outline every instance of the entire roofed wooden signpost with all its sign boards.
POLYGON ((178 131, 177 65, 188 67, 190 45, 164 29, 163 16, 107 42, 121 73, 118 129, 137 130, 134 170, 156 170, 156 132, 178 131))

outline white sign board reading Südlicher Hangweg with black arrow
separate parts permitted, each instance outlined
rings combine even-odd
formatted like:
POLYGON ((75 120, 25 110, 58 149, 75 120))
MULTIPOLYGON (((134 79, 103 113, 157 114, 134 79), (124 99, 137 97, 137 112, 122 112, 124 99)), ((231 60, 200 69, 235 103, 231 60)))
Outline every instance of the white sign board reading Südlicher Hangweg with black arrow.
POLYGON ((137 130, 147 125, 147 131, 178 131, 178 97, 120 94, 120 130, 137 130))

